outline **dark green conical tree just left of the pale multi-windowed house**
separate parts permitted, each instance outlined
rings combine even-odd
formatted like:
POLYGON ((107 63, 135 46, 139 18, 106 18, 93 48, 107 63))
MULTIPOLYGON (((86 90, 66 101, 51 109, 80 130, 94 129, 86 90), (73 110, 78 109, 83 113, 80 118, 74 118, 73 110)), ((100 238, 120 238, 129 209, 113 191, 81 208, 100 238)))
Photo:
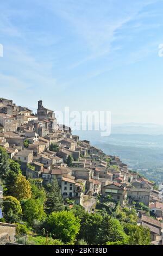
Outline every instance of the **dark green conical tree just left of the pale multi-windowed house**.
POLYGON ((63 210, 63 199, 57 179, 47 186, 46 208, 48 212, 63 210))

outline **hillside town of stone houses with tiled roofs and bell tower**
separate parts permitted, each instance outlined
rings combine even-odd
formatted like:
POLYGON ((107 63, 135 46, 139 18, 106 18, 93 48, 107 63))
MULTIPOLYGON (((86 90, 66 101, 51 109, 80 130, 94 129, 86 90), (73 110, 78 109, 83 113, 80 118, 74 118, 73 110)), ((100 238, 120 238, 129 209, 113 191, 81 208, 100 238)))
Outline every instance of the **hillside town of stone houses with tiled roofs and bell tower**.
MULTIPOLYGON (((106 155, 86 139, 81 141, 71 127, 59 125, 55 112, 41 100, 34 114, 0 98, 0 148, 20 164, 27 180, 46 187, 57 179, 68 208, 81 205, 91 214, 102 209, 114 212, 117 206, 122 211, 134 209, 136 225, 148 228, 153 245, 162 245, 163 186, 158 190, 153 181, 131 171, 120 157, 106 155)), ((5 191, 0 185, 3 200, 5 191)), ((14 224, 6 225, 15 229, 14 224)), ((0 223, 0 241, 4 227, 5 223, 0 223)))

